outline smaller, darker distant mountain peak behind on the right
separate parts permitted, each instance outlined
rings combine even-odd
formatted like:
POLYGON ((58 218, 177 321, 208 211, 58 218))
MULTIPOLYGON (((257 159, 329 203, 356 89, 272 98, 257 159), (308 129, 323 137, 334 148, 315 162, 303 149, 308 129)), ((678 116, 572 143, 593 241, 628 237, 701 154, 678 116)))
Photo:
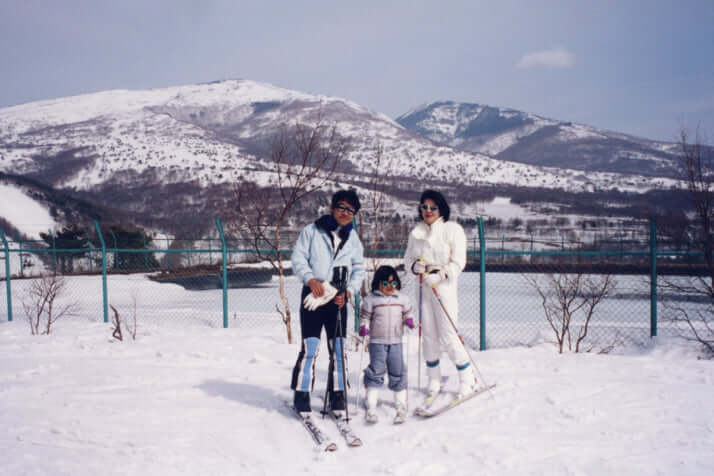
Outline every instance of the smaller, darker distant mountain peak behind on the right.
POLYGON ((396 119, 436 144, 503 160, 585 171, 677 177, 679 145, 514 109, 434 102, 396 119))

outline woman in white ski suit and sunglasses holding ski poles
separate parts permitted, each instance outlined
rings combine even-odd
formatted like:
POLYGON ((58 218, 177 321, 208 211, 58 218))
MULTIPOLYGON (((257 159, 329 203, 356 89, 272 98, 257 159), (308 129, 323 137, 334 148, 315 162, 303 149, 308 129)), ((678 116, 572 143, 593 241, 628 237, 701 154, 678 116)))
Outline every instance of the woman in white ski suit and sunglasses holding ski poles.
POLYGON ((449 221, 450 209, 444 196, 425 190, 419 200, 422 221, 409 234, 404 268, 423 275, 421 326, 426 360, 427 401, 433 401, 441 390, 440 356, 445 350, 456 365, 459 395, 475 388, 473 369, 466 348, 444 314, 432 287, 436 289, 449 316, 458 326, 458 277, 466 266, 466 234, 456 222, 449 221))

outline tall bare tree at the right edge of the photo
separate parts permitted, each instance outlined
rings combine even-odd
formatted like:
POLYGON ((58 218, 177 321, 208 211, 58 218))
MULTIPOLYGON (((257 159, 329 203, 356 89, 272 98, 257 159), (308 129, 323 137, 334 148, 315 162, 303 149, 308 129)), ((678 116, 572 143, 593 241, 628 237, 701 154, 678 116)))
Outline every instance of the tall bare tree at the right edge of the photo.
POLYGON ((682 178, 695 212, 692 223, 694 246, 704 256, 706 272, 664 280, 664 303, 671 311, 670 321, 682 326, 682 336, 699 342, 714 355, 714 147, 704 144, 698 129, 693 141, 682 129, 680 146, 682 178), (668 301, 667 294, 684 296, 690 303, 668 301))

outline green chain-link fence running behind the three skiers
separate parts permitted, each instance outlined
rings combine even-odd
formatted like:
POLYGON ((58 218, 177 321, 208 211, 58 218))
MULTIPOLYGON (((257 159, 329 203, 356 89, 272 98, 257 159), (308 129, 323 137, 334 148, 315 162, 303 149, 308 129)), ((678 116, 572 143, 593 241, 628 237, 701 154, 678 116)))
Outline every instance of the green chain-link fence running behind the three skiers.
MULTIPOLYGON (((132 248, 122 248, 119 232, 99 224, 94 233, 87 231, 92 239, 82 248, 49 240, 12 241, 2 234, 0 318, 26 320, 32 283, 57 272, 65 280, 58 304, 74 305, 72 319, 109 322, 116 310, 125 324, 135 321, 139 328, 246 326, 274 332, 283 326, 277 310, 282 308, 277 275, 272 268, 251 264, 255 251, 245 242, 226 238, 219 221, 216 227, 214 238, 141 236, 135 237, 132 248)), ((489 237, 479 220, 478 233, 469 245, 467 269, 459 278, 458 326, 472 348, 555 341, 562 331, 563 312, 570 311, 570 334, 563 334, 563 339, 569 338, 566 349, 568 341, 574 348, 586 324, 581 350, 645 345, 658 333, 682 332, 672 317, 683 308, 692 313, 708 313, 712 308, 705 296, 683 286, 698 279, 701 256, 662 244, 658 248, 654 225, 649 241, 601 241, 592 250, 582 244, 572 249, 564 240, 489 237), (560 304, 554 311, 553 306, 565 302, 558 296, 568 292, 573 298, 570 307, 560 304), (589 303, 595 301, 588 319, 589 303), (583 306, 575 309, 581 302, 583 306)), ((284 260, 289 256, 285 250, 284 260)), ((376 258, 394 265, 400 264, 401 256, 401 249, 381 249, 376 258)), ((293 335, 299 337, 301 284, 286 271, 285 295, 293 335)), ((416 278, 402 272, 402 282, 416 305, 416 278)))

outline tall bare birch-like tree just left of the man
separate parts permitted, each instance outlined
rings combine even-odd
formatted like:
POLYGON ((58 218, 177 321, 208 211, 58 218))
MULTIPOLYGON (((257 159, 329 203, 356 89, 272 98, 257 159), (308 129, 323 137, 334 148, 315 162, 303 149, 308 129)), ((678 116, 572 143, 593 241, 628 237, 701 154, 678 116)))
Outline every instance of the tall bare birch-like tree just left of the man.
POLYGON ((315 124, 296 123, 283 127, 271 144, 269 170, 271 186, 260 188, 241 184, 235 188, 235 230, 245 236, 261 260, 267 260, 278 273, 280 303, 275 308, 292 343, 291 310, 285 292, 285 272, 281 232, 301 200, 321 190, 334 177, 337 165, 347 152, 348 141, 336 126, 323 123, 318 114, 315 124))

